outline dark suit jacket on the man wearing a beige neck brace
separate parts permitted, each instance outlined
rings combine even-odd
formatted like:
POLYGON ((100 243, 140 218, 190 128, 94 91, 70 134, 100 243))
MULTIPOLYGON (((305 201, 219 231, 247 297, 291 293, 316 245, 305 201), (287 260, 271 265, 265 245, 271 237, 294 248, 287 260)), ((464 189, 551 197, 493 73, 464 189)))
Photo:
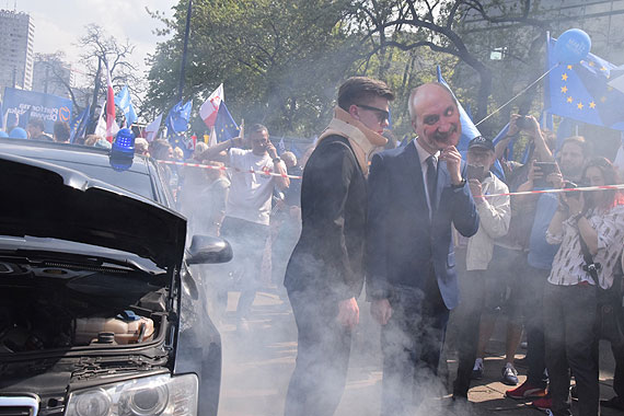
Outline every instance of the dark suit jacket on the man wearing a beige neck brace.
POLYGON ((320 299, 359 296, 366 204, 366 178, 348 140, 323 139, 303 171, 301 236, 284 280, 289 291, 311 290, 320 299))

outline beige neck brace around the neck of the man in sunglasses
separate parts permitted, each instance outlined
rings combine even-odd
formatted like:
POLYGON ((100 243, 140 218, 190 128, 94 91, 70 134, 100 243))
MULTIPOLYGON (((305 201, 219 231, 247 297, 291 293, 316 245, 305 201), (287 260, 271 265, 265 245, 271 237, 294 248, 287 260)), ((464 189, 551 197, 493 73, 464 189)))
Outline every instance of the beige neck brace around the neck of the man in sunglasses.
POLYGON ((337 135, 349 140, 356 159, 365 175, 368 175, 368 162, 372 157, 372 152, 384 147, 388 139, 380 134, 366 127, 363 123, 355 119, 351 115, 340 107, 334 108, 334 118, 321 137, 316 141, 316 146, 326 137, 337 135))

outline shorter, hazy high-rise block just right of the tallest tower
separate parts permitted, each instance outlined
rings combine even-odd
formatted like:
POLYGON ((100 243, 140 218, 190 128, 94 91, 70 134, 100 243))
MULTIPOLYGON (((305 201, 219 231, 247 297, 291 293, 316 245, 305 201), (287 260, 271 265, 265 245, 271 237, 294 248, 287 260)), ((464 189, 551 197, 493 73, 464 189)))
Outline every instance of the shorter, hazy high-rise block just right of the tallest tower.
POLYGON ((56 54, 36 54, 33 70, 33 91, 69 97, 73 86, 71 66, 56 54))

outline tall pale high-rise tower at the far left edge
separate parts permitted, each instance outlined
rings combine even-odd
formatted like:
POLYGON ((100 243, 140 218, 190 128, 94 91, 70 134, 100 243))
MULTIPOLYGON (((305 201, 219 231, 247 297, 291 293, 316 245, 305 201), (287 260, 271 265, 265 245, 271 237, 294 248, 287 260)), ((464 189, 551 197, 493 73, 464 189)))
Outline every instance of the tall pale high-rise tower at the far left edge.
POLYGON ((33 85, 35 24, 27 13, 0 10, 0 93, 33 85))

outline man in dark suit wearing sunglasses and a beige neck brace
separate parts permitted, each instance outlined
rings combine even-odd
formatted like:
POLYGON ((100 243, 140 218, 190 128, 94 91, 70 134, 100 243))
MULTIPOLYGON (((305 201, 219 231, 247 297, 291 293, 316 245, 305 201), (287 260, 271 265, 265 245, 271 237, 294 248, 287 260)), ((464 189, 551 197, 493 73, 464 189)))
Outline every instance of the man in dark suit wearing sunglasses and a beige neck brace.
POLYGON ((284 281, 299 333, 287 416, 331 416, 345 389, 363 286, 368 161, 386 142, 392 99, 384 82, 348 79, 303 171, 301 236, 284 281))

